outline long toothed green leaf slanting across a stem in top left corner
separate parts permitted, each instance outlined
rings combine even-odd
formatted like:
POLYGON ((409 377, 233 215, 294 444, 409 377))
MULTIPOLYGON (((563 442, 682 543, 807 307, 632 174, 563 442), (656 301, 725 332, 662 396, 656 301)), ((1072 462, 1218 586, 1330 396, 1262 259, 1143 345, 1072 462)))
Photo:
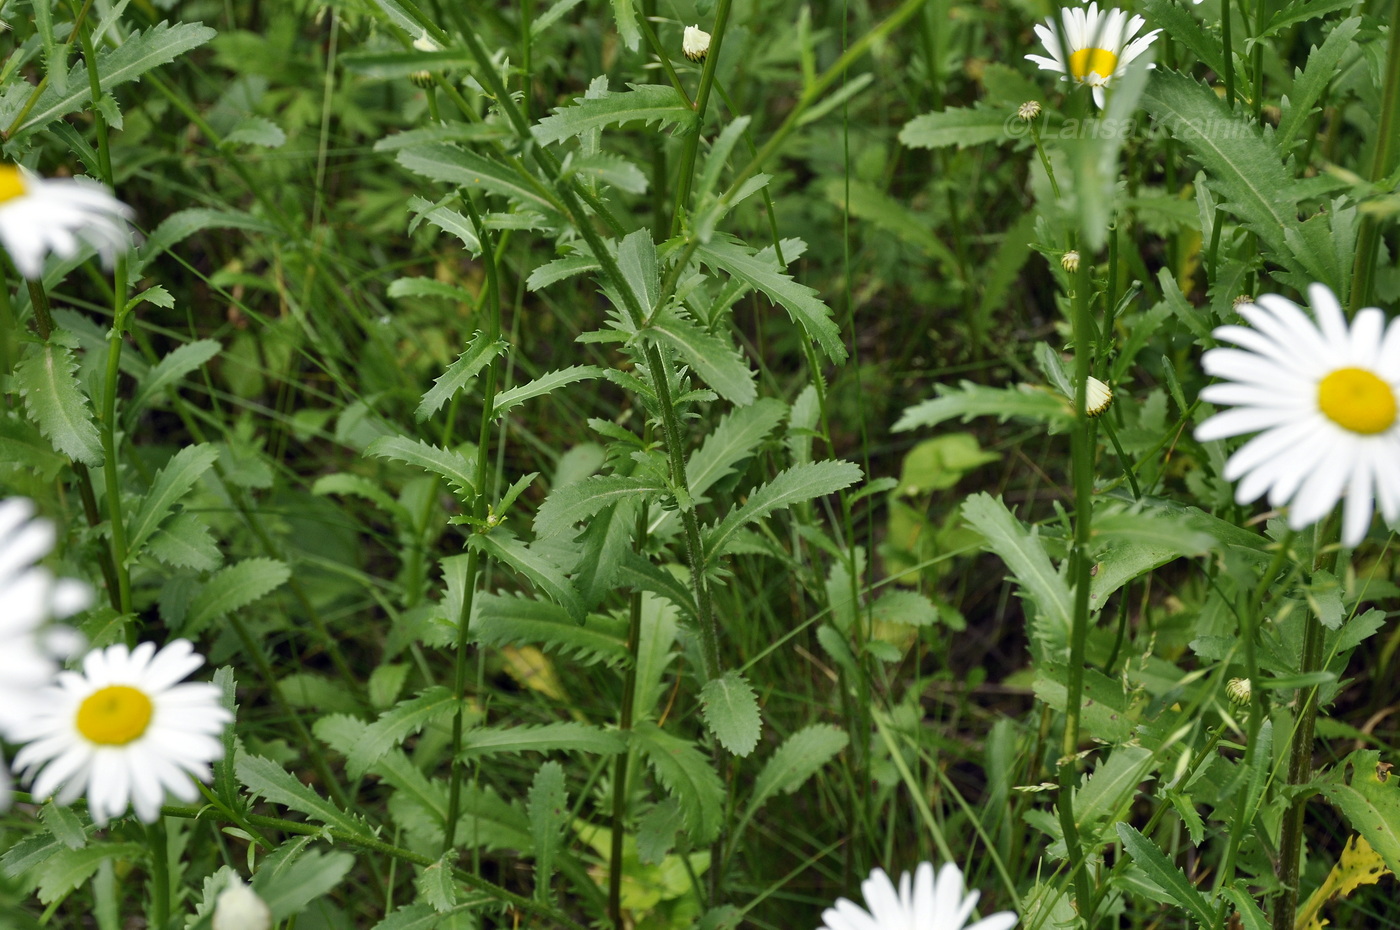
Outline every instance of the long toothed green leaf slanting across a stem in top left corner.
MULTIPOLYGON (((161 22, 146 32, 129 35, 113 49, 101 49, 97 56, 98 88, 111 94, 113 88, 134 81, 154 67, 174 62, 176 56, 197 49, 217 35, 214 29, 199 22, 161 22)), ((48 123, 77 112, 92 102, 92 85, 87 76, 87 64, 78 62, 67 74, 64 90, 49 85, 34 109, 20 125, 11 141, 24 139, 48 123)), ((8 125, 18 113, 0 115, 0 123, 8 125)))

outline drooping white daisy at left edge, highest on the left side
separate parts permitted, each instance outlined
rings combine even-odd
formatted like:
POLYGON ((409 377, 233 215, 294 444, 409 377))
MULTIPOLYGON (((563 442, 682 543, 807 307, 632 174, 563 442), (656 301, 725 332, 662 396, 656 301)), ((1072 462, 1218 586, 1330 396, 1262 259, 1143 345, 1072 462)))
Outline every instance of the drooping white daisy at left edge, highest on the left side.
POLYGON ((41 178, 20 165, 0 165, 0 244, 28 279, 43 275, 49 252, 73 258, 78 244, 106 265, 130 248, 132 209, 88 178, 41 178))

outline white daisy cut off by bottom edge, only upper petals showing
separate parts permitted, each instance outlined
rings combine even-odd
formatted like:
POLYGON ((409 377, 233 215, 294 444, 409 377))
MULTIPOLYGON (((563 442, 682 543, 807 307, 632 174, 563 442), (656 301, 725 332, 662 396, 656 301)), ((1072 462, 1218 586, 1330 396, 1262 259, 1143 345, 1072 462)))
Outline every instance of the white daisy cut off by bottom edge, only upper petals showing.
MULTIPOLYGON (((820 930, 963 930, 981 892, 963 896, 962 871, 946 863, 934 882, 932 863, 920 863, 913 881, 909 873, 899 877, 899 889, 883 868, 876 868, 861 882, 865 908, 839 898, 834 908, 822 913, 820 930)), ((1009 910, 983 917, 966 930, 1009 930, 1016 915, 1009 910)))

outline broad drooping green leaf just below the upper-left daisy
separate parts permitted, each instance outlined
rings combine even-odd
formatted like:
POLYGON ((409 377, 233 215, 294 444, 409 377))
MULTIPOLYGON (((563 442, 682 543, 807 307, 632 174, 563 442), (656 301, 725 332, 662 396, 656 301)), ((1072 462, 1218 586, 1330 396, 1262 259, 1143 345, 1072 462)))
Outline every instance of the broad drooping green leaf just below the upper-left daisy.
POLYGON ((102 464, 102 440, 92 422, 87 395, 78 387, 77 359, 56 329, 49 342, 14 367, 14 382, 25 410, 53 448, 84 465, 102 464))

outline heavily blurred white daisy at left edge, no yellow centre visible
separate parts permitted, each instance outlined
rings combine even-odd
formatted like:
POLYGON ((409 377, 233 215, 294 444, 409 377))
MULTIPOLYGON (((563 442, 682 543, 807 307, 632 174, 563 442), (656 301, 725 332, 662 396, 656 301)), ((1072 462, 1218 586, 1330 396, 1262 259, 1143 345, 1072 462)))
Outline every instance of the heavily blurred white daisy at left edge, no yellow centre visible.
MULTIPOLYGON (((0 735, 11 737, 36 709, 38 693, 57 672, 56 657, 77 647, 77 634, 46 626, 87 608, 92 590, 55 578, 38 562, 53 549, 56 531, 32 520, 24 497, 0 501, 0 735)), ((0 810, 10 805, 10 775, 0 759, 0 810)))

